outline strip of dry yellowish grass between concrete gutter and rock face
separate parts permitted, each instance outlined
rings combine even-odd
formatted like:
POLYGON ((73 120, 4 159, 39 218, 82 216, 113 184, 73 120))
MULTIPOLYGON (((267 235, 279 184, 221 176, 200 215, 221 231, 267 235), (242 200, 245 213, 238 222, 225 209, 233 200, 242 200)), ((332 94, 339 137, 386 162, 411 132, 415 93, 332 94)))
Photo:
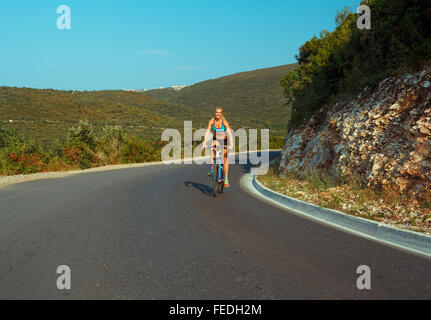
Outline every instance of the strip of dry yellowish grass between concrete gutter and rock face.
POLYGON ((293 173, 280 174, 279 162, 271 166, 259 181, 266 187, 292 198, 339 210, 350 215, 387 223, 398 228, 431 235, 430 201, 364 188, 356 179, 334 179, 309 171, 299 178, 293 173))

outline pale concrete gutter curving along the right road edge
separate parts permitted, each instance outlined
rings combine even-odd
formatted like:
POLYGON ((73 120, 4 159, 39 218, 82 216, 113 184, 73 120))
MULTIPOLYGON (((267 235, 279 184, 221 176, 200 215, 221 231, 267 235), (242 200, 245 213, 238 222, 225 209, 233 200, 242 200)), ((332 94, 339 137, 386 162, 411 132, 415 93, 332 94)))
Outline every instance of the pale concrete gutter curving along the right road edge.
POLYGON ((425 234, 397 229, 384 223, 347 215, 285 196, 266 188, 256 179, 256 176, 250 174, 242 177, 241 187, 251 195, 289 213, 431 259, 431 237, 425 234))

